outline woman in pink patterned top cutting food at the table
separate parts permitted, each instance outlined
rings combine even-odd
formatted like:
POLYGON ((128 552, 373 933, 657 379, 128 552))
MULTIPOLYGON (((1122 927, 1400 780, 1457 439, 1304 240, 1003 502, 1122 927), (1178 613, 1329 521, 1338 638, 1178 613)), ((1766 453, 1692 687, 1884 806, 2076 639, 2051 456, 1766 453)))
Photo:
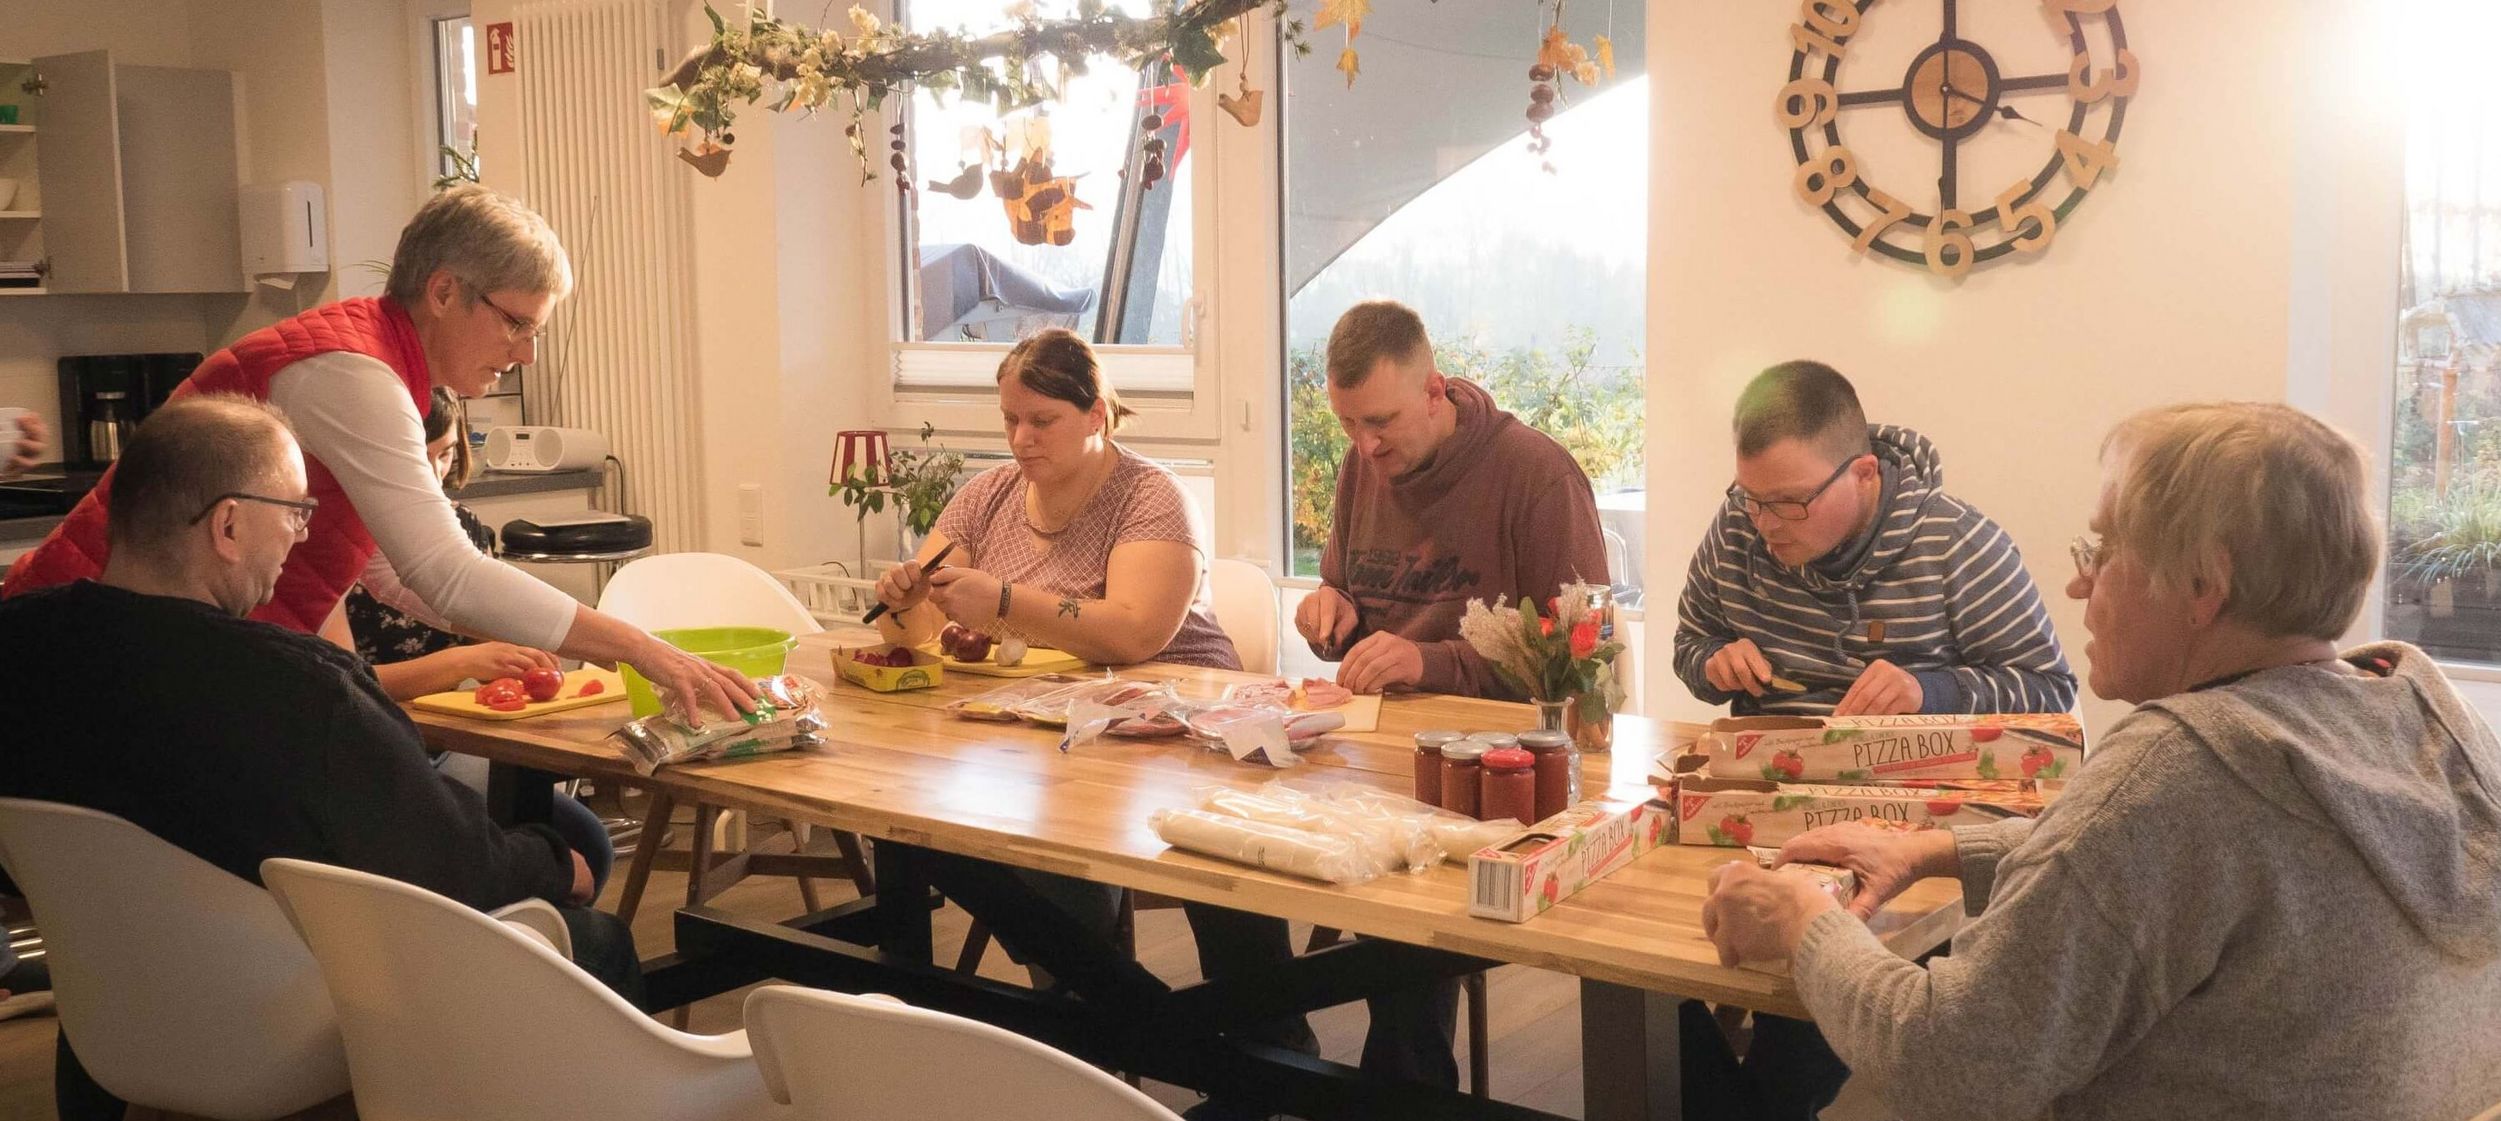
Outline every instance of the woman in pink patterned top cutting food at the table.
POLYGON ((1205 593, 1205 533, 1170 470, 1120 448, 1130 415, 1068 330, 998 363, 1015 463, 983 470, 938 515, 920 558, 878 581, 878 628, 918 646, 953 621, 1100 666, 1240 668, 1205 593), (923 566, 955 545, 933 573, 923 566))

